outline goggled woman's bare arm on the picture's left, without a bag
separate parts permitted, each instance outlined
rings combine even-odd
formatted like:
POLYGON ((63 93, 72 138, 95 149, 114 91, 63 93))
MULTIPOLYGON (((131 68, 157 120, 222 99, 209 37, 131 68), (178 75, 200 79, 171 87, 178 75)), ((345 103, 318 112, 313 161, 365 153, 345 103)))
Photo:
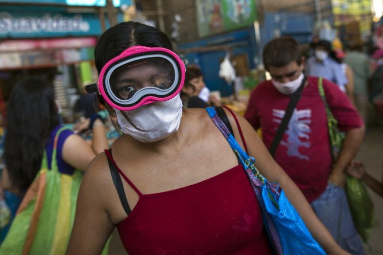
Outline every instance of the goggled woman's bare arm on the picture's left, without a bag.
POLYGON ((107 201, 113 201, 109 192, 113 182, 103 161, 106 161, 104 154, 96 157, 81 182, 66 254, 101 254, 115 228, 106 206, 107 201))

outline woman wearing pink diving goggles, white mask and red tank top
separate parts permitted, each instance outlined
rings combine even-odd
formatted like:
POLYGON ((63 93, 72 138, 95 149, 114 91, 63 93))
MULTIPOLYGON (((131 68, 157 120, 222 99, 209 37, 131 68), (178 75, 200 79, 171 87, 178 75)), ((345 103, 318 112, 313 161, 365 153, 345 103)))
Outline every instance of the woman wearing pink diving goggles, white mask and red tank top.
MULTIPOLYGON (((124 134, 89 165, 67 254, 99 254, 116 227, 129 254, 272 254, 226 138, 205 109, 182 108, 185 67, 169 37, 120 23, 100 37, 94 56, 100 78, 88 91, 99 93, 124 134)), ((262 175, 279 183, 325 250, 339 251, 250 124, 224 111, 262 175)))

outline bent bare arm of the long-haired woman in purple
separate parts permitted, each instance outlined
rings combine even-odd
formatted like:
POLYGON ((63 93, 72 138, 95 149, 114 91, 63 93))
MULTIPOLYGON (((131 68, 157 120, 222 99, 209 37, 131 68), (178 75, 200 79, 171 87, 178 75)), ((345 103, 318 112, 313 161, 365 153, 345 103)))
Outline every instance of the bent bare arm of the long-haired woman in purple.
MULTIPOLYGON (((89 122, 85 124, 86 127, 89 126, 89 122)), ((108 148, 106 129, 103 122, 99 119, 93 123, 92 136, 91 145, 86 143, 79 135, 73 134, 68 136, 62 148, 63 160, 77 169, 85 170, 97 154, 108 148)))

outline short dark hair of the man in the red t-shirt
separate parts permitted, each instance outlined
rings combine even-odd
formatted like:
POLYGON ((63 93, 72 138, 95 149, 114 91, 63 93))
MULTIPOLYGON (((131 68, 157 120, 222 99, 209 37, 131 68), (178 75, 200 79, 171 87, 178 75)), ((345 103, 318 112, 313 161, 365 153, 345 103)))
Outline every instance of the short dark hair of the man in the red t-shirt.
POLYGON ((290 36, 283 36, 268 42, 262 53, 266 70, 272 67, 284 67, 295 61, 302 62, 302 50, 299 43, 290 36))

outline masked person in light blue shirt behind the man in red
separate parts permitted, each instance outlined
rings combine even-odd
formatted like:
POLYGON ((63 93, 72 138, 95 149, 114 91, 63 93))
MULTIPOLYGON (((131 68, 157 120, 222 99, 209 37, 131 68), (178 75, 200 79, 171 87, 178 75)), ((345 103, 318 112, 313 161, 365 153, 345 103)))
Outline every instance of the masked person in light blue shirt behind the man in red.
POLYGON ((341 61, 332 50, 331 43, 319 40, 313 43, 314 56, 308 58, 305 66, 307 76, 323 77, 338 84, 339 89, 346 92, 347 77, 342 72, 341 61))

